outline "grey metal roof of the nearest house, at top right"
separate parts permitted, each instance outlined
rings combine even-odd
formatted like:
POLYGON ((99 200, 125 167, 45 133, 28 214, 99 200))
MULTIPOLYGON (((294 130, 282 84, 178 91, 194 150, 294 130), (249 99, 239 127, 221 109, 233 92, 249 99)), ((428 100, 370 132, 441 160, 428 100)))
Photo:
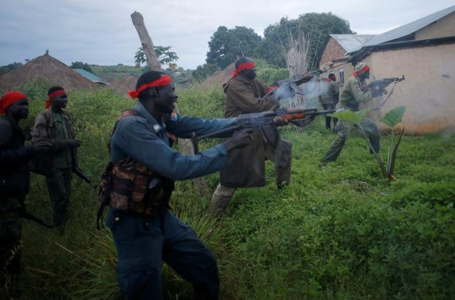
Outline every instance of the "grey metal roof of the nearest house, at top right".
POLYGON ((396 40, 397 38, 402 38, 404 36, 408 36, 411 33, 414 33, 416 31, 418 31, 419 29, 424 28, 425 26, 428 26, 431 23, 438 21, 440 18, 443 18, 444 16, 447 16, 448 14, 453 13, 454 11, 455 11, 455 5, 450 6, 441 11, 437 11, 434 14, 424 16, 423 18, 419 18, 416 21, 407 23, 406 25, 397 27, 395 29, 392 29, 391 31, 387 31, 378 36, 375 36, 374 38, 371 38, 366 43, 358 45, 357 48, 354 48, 353 50, 348 51, 348 53, 357 51, 360 48, 368 46, 368 45, 378 45, 380 43, 387 43, 387 42, 396 40))

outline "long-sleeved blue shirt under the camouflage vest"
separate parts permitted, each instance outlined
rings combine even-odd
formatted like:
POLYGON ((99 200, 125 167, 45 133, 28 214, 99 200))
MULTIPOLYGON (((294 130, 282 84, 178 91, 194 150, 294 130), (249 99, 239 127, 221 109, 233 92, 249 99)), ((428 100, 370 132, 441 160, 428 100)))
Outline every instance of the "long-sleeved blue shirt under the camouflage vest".
POLYGON ((117 162, 127 156, 147 168, 174 180, 197 178, 228 166, 225 146, 218 144, 196 155, 186 156, 169 146, 164 127, 179 138, 189 139, 235 125, 235 118, 200 119, 179 117, 158 122, 140 102, 134 107, 142 117, 127 116, 120 119, 112 135, 110 161, 117 162))

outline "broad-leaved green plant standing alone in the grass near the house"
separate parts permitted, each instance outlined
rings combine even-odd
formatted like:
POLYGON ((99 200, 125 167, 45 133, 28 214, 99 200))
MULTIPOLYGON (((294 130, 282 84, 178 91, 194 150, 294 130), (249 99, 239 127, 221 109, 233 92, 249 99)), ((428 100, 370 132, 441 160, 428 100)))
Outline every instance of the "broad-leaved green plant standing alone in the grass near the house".
POLYGON ((395 175, 393 173, 394 168, 395 168, 395 161, 397 160, 397 151, 398 151, 398 146, 400 146, 400 142, 403 136, 403 133, 405 132, 405 128, 402 129, 400 136, 398 137, 397 144, 393 146, 394 139, 395 139, 395 125, 399 124, 402 122, 403 119, 403 114, 405 114, 406 107, 400 106, 400 107, 395 107, 394 109, 390 110, 385 114, 382 119, 380 119, 380 122, 390 126, 392 128, 392 131, 390 132, 390 144, 389 144, 389 151, 387 155, 387 165, 384 164, 384 161, 382 161, 381 157, 379 156, 378 153, 376 153, 375 149, 373 149, 373 145, 370 143, 370 140, 368 139, 367 134, 362 128, 362 125, 360 122, 362 122, 362 119, 366 117, 368 112, 370 112, 371 108, 368 107, 367 109, 360 110, 359 112, 351 112, 350 110, 346 110, 343 112, 335 112, 332 114, 333 117, 336 117, 338 119, 342 119, 346 122, 353 123, 355 125, 358 125, 360 130, 363 132, 363 136, 365 136, 365 139, 368 141, 368 144, 370 145, 371 151, 373 151, 373 154, 375 154, 376 161, 378 161, 378 164, 381 168, 382 176, 387 179, 388 181, 393 181, 395 180, 395 175))

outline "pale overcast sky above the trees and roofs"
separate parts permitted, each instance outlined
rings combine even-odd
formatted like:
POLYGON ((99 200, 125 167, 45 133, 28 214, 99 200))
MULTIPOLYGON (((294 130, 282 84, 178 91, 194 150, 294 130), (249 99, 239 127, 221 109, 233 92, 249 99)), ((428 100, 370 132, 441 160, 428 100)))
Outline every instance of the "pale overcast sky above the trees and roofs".
POLYGON ((332 12, 359 34, 379 34, 455 0, 0 0, 0 65, 45 50, 67 65, 134 65, 141 46, 131 14, 138 11, 154 45, 171 46, 184 69, 205 63, 218 26, 245 26, 263 36, 282 17, 332 12))

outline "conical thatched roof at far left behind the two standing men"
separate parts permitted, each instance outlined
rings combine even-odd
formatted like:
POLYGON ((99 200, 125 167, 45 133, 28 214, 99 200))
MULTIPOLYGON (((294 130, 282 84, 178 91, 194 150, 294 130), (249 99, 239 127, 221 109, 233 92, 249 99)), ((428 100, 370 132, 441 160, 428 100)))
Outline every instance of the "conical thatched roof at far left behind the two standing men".
POLYGON ((0 90, 11 90, 24 85, 38 77, 43 77, 52 82, 52 85, 60 85, 66 90, 95 89, 97 85, 83 77, 60 60, 45 55, 29 61, 21 68, 12 70, 0 76, 0 90))

